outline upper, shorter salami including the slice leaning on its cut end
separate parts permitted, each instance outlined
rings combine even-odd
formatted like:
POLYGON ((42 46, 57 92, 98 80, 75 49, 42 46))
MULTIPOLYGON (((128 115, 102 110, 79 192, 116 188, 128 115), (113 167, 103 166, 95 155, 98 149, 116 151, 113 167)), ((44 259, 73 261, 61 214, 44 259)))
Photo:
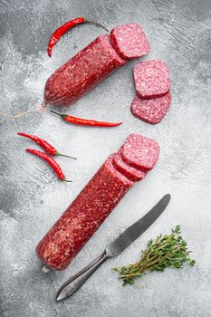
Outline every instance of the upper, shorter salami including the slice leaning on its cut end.
POLYGON ((130 58, 149 52, 148 40, 139 24, 125 24, 116 29, 111 31, 112 41, 110 35, 97 37, 53 72, 45 84, 45 103, 68 106, 130 58))

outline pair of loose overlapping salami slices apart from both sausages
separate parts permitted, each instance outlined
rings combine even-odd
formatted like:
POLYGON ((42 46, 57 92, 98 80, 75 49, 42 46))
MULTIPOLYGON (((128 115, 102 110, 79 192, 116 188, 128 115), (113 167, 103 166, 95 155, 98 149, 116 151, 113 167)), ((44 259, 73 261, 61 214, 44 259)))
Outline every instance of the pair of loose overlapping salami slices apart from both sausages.
POLYGON ((171 104, 170 75, 166 62, 151 60, 134 67, 137 95, 130 110, 145 122, 156 124, 163 119, 171 104))

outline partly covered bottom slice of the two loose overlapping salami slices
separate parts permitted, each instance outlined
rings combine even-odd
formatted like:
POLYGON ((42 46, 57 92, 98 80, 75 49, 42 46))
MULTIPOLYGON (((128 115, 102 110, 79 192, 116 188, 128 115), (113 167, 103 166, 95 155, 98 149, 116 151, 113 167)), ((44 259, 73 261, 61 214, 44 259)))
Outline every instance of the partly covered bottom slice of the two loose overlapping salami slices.
POLYGON ((171 104, 171 93, 157 98, 141 99, 135 96, 130 110, 132 114, 142 121, 156 124, 160 122, 168 111, 171 104))

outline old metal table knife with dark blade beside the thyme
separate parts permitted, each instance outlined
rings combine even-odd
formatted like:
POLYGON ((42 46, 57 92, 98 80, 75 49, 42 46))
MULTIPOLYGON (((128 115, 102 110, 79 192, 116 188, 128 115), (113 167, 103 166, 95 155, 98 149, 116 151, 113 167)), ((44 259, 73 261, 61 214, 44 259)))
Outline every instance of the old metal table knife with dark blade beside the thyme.
POLYGON ((129 226, 109 246, 107 246, 102 255, 82 269, 78 274, 73 275, 67 282, 63 283, 56 295, 56 301, 62 301, 65 298, 70 297, 73 293, 78 291, 82 284, 101 264, 103 264, 103 262, 110 257, 120 255, 126 247, 131 245, 131 243, 135 241, 139 235, 143 234, 158 216, 162 214, 164 209, 168 206, 169 200, 169 194, 162 197, 158 201, 158 204, 149 210, 145 216, 142 216, 137 222, 129 226))

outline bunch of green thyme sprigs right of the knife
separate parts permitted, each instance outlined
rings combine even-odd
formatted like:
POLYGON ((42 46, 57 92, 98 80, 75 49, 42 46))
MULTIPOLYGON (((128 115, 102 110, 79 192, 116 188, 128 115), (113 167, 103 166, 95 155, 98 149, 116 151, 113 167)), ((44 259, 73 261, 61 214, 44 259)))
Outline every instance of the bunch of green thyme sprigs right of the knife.
POLYGON ((171 235, 158 235, 155 240, 149 240, 146 250, 141 250, 141 257, 135 264, 115 267, 112 270, 120 274, 123 285, 133 284, 137 277, 152 271, 163 272, 167 267, 179 269, 185 262, 196 263, 189 257, 187 242, 181 236, 180 226, 173 228, 171 235))

